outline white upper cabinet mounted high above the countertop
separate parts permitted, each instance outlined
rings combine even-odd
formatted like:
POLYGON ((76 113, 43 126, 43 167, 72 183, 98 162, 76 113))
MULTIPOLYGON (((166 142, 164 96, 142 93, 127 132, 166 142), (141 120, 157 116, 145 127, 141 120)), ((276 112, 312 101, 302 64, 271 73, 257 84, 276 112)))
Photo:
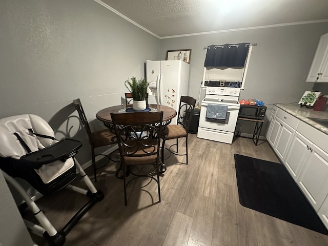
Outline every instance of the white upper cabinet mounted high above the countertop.
POLYGON ((328 82, 328 33, 320 37, 306 82, 328 82))

